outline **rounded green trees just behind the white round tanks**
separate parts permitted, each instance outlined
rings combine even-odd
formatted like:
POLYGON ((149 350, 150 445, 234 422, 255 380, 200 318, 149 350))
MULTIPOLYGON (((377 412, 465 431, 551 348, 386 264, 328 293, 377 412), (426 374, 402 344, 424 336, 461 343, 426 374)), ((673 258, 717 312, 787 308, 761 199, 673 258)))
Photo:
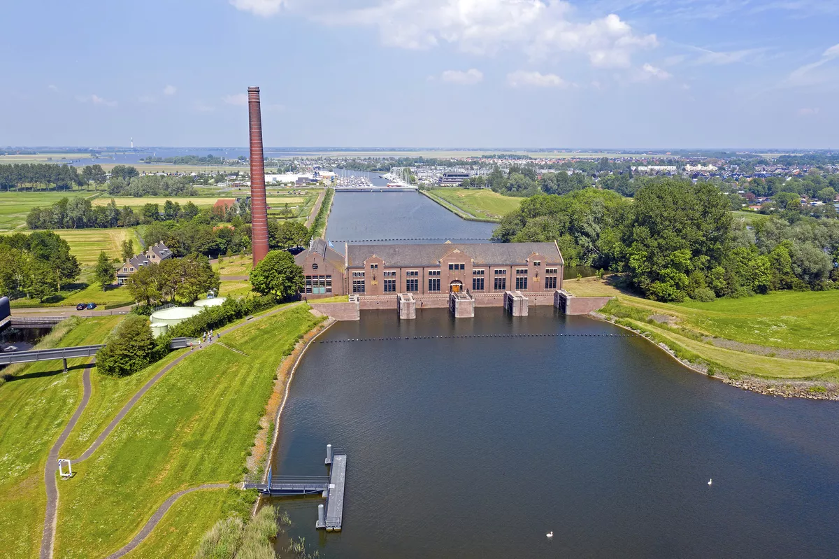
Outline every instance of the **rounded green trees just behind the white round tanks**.
POLYGON ((220 279, 210 260, 197 254, 142 266, 128 278, 128 291, 138 303, 190 305, 209 290, 218 290, 220 279))

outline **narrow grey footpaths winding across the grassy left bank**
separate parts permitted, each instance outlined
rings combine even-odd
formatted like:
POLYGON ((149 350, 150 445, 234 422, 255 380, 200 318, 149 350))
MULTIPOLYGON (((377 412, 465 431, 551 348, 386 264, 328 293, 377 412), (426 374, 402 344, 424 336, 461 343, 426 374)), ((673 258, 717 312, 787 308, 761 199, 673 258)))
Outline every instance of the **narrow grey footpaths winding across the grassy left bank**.
MULTIPOLYGON (((293 303, 291 305, 280 307, 279 309, 274 309, 274 311, 268 311, 260 316, 254 316, 253 320, 250 321, 243 321, 241 324, 237 324, 236 326, 232 326, 226 328, 225 330, 221 331, 221 335, 224 336, 230 332, 238 330, 239 328, 246 326, 248 324, 252 324, 254 321, 262 320, 268 316, 274 316, 275 314, 283 311, 288 311, 289 309, 293 309, 295 306, 302 305, 302 302, 293 303)), ((206 344, 204 347, 209 347, 212 345, 213 342, 206 344)), ((201 351, 204 347, 198 349, 201 351)), ((91 447, 89 447, 84 453, 82 453, 81 457, 76 458, 76 460, 71 460, 70 462, 73 464, 77 464, 79 462, 83 462, 87 458, 91 457, 99 447, 102 446, 102 443, 107 439, 107 436, 111 434, 111 432, 117 427, 122 418, 128 415, 128 412, 137 404, 138 400, 143 397, 143 394, 149 391, 149 389, 154 386, 161 378, 163 378, 164 374, 169 373, 172 368, 183 361, 185 358, 189 357, 190 355, 194 354, 195 351, 189 351, 181 355, 180 357, 176 358, 172 363, 169 363, 164 368, 160 369, 158 374, 155 374, 152 379, 149 380, 146 384, 143 384, 143 388, 139 389, 137 394, 134 394, 131 400, 128 400, 128 403, 122 406, 122 410, 119 411, 116 417, 113 418, 111 423, 105 428, 102 433, 96 437, 96 441, 93 441, 91 447)), ((47 465, 44 468, 44 483, 46 484, 47 490, 47 508, 46 514, 44 515, 44 535, 41 537, 41 551, 40 551, 40 559, 52 559, 53 556, 53 547, 55 543, 55 528, 58 520, 58 458, 59 452, 61 451, 61 447, 64 445, 67 437, 70 436, 70 432, 76 427, 76 423, 78 423, 79 419, 81 418, 82 412, 84 412, 87 403, 91 400, 91 368, 93 368, 95 364, 95 360, 88 363, 85 368, 85 373, 82 375, 82 384, 84 385, 84 394, 81 397, 81 402, 79 402, 78 407, 76 408, 76 412, 70 418, 70 421, 65 426, 64 431, 61 432, 61 436, 59 436, 58 440, 55 441, 55 444, 52 448, 50 448, 50 454, 47 457, 47 465)), ((128 551, 133 550, 134 547, 138 546, 141 541, 143 541, 146 537, 148 537, 151 530, 154 529, 154 526, 158 524, 160 519, 169 510, 169 507, 175 503, 181 495, 190 493, 192 491, 197 491, 199 489, 211 489, 211 488, 226 488, 229 487, 228 483, 210 483, 206 485, 201 485, 196 488, 185 489, 180 491, 169 499, 166 499, 164 504, 160 506, 157 512, 154 513, 154 516, 143 526, 143 530, 140 530, 138 535, 134 537, 132 541, 128 543, 128 546, 123 547, 120 551, 117 551, 112 557, 120 557, 128 553, 128 551), (118 554, 118 555, 117 555, 118 554)))

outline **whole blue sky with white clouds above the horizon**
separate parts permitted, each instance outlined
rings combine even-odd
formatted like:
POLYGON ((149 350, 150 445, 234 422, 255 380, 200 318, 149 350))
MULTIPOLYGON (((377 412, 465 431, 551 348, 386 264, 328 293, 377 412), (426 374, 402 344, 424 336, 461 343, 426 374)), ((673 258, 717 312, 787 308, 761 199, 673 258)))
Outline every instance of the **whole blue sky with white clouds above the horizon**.
POLYGON ((839 147, 835 0, 9 2, 0 145, 839 147))

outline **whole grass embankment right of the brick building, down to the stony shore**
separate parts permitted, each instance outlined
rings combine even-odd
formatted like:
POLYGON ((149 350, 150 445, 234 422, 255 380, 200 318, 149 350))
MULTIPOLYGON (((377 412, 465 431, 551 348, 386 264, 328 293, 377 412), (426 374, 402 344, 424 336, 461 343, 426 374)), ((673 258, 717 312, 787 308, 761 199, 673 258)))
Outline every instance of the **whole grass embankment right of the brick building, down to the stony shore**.
POLYGON ((675 304, 630 295, 597 278, 565 280, 564 287, 577 296, 615 297, 603 314, 649 333, 691 363, 733 376, 839 381, 839 363, 830 357, 839 350, 839 291, 675 304), (709 338, 734 343, 720 347, 709 338))

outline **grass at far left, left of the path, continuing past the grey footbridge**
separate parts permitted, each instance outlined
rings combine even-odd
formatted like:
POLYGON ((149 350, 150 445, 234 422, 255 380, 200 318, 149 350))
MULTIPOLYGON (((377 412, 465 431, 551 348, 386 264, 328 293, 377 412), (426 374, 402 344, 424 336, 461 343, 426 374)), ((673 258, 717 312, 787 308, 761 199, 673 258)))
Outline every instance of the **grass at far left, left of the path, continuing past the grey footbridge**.
MULTIPOLYGON (((122 316, 89 318, 56 347, 102 342, 122 316)), ((87 359, 32 363, 0 385, 0 542, 4 557, 38 555, 44 525, 44 466, 50 447, 81 400, 87 359)))

